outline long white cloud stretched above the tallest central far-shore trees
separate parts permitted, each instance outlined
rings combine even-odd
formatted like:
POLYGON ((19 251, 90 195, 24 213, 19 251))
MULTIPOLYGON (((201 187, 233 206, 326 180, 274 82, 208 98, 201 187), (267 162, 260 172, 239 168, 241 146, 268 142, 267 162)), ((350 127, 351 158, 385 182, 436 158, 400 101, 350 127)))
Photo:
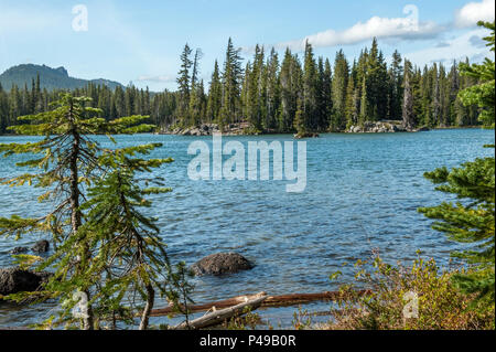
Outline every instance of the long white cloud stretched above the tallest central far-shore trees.
MULTIPOLYGON (((407 10, 407 9, 406 9, 407 10)), ((289 46, 293 50, 302 50, 309 41, 314 47, 349 45, 364 41, 378 39, 432 39, 444 29, 434 22, 418 22, 416 18, 379 18, 373 17, 367 22, 358 22, 344 31, 327 30, 316 34, 308 35, 304 39, 279 43, 277 47, 289 46)))

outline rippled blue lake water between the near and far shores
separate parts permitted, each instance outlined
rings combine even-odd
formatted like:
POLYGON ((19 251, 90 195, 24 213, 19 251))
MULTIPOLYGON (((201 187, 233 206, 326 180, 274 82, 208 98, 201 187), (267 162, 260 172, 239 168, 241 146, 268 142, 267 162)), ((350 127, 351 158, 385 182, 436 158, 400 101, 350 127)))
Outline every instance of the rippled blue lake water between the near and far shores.
MULTIPOLYGON (((100 138, 100 137, 98 137, 100 138)), ((101 137, 103 140, 105 139, 101 137)), ((0 142, 33 138, 0 137, 0 142)), ((172 157, 157 174, 166 179, 173 192, 154 198, 151 213, 159 217, 162 236, 173 262, 193 264, 216 252, 235 250, 255 262, 250 271, 224 277, 196 278, 197 302, 218 300, 261 290, 270 295, 317 292, 336 289, 353 279, 354 263, 379 248, 389 260, 412 260, 422 249, 448 266, 449 254, 459 248, 430 228, 430 221, 417 212, 450 195, 433 191, 424 171, 455 167, 476 157, 494 154, 482 148, 494 143, 493 130, 456 129, 419 134, 322 135, 306 140, 308 182, 303 193, 287 193, 290 181, 191 181, 187 147, 208 137, 119 136, 119 145, 163 142, 154 157, 172 157), (337 281, 328 275, 342 270, 337 281)), ((225 137, 224 141, 292 140, 290 136, 225 137)), ((14 161, 0 160, 0 178, 20 171, 14 161)), ((293 183, 293 181, 291 181, 293 183)), ((2 216, 35 216, 47 207, 40 193, 28 186, 0 186, 2 216)), ((0 238, 0 267, 12 264, 8 254, 15 246, 31 245, 41 235, 19 242, 0 238)), ((159 302, 157 306, 163 306, 159 302)), ((0 327, 25 326, 50 316, 51 305, 17 308, 0 305, 0 327)), ((325 310, 328 303, 305 307, 325 310)), ((277 328, 291 323, 298 308, 260 310, 277 328)), ((168 322, 166 318, 153 323, 168 322)))

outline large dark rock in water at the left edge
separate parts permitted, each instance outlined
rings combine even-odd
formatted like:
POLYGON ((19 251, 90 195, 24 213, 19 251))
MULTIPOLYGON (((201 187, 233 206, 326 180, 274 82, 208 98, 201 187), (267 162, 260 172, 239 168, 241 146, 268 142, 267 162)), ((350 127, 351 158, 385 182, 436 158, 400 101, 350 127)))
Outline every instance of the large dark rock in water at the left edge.
POLYGON ((0 295, 35 291, 48 277, 48 273, 34 273, 20 268, 0 269, 0 295))

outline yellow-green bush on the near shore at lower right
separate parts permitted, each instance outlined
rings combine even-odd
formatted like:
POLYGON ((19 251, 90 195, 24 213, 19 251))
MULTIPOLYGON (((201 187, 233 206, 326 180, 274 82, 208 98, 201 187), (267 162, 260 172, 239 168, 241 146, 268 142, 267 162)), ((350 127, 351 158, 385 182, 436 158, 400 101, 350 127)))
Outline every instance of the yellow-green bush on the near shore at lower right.
POLYGON ((399 263, 391 266, 379 256, 373 258, 371 270, 365 268, 366 264, 357 262, 355 278, 370 292, 360 296, 356 285, 343 286, 326 329, 495 329, 494 301, 474 300, 476 295, 463 294, 453 285, 454 275, 470 274, 471 269, 441 271, 434 259, 422 258, 411 267, 399 263))

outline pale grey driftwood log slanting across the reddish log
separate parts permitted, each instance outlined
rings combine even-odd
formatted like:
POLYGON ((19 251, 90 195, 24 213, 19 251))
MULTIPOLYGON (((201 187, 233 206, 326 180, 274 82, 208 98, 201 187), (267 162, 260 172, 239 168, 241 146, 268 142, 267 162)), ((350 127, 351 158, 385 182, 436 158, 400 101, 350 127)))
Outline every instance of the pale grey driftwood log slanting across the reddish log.
POLYGON ((261 303, 267 299, 268 296, 258 296, 255 299, 249 299, 245 302, 238 303, 236 306, 215 310, 211 313, 207 313, 201 318, 192 320, 190 322, 182 322, 174 328, 174 330, 184 330, 184 329, 203 329, 212 326, 216 326, 222 323, 223 321, 230 319, 233 317, 239 317, 248 311, 252 311, 261 306, 261 303))

